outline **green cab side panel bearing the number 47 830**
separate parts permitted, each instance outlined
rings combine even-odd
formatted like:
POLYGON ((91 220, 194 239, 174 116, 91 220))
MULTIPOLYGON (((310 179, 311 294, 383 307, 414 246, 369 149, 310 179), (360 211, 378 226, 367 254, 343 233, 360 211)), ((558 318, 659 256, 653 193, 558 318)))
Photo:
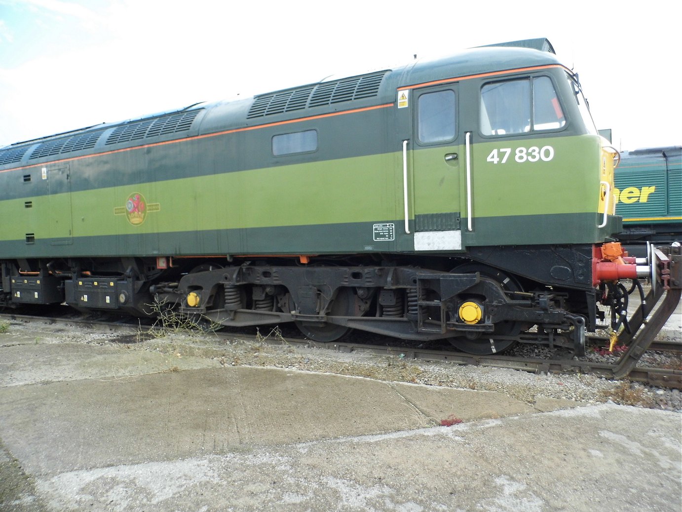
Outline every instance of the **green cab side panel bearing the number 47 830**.
POLYGON ((509 245, 519 238, 533 244, 604 241, 617 227, 597 227, 602 221, 597 214, 599 152, 599 141, 591 135, 473 145, 473 223, 463 240, 471 246, 509 245), (531 148, 544 158, 529 161, 531 148))

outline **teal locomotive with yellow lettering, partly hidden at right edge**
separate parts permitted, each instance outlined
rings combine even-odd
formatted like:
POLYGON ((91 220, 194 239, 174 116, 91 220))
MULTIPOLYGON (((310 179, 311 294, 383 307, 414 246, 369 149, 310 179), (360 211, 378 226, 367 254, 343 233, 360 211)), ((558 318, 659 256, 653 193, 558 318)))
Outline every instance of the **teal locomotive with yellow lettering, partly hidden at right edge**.
POLYGON ((622 152, 615 184, 623 243, 682 240, 682 146, 622 152))

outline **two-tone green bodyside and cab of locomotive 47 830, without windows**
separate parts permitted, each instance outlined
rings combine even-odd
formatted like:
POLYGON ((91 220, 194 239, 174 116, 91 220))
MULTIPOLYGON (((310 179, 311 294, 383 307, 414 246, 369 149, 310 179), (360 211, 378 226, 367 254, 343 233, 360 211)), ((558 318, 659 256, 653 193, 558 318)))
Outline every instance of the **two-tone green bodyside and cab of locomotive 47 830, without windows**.
POLYGON ((184 132, 151 133, 151 121, 135 121, 129 139, 112 142, 123 125, 98 127, 93 147, 57 156, 31 158, 42 143, 27 143, 20 161, 0 166, 0 216, 11 219, 0 230, 0 259, 413 252, 415 233, 441 231, 460 233, 461 244, 443 251, 461 253, 589 244, 612 232, 597 228, 599 140, 552 55, 481 48, 380 78, 373 96, 271 115, 253 113, 261 97, 182 111, 176 117, 193 116, 184 132), (482 136, 481 85, 535 73, 557 83, 566 126, 542 137, 482 136), (398 92, 440 81, 458 94, 456 137, 420 145, 415 103, 401 105, 398 92), (273 156, 273 137, 306 130, 316 132, 314 150, 273 156), (513 158, 533 147, 546 158, 513 158), (505 149, 511 159, 491 161, 505 149))

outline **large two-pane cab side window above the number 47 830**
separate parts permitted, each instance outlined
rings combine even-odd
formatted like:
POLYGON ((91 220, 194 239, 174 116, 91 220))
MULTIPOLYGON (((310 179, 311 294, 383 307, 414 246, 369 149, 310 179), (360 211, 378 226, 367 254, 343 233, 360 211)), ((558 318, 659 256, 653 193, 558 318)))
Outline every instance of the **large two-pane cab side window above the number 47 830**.
POLYGON ((486 83, 481 88, 480 119, 484 135, 556 130, 566 124, 548 76, 486 83))

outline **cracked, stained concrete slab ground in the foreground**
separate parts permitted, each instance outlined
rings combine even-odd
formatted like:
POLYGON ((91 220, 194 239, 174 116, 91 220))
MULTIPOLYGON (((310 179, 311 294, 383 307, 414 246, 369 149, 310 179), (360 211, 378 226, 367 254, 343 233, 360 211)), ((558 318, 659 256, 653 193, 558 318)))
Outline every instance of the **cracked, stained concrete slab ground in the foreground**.
POLYGON ((673 412, 0 336, 0 511, 682 506, 673 412))

